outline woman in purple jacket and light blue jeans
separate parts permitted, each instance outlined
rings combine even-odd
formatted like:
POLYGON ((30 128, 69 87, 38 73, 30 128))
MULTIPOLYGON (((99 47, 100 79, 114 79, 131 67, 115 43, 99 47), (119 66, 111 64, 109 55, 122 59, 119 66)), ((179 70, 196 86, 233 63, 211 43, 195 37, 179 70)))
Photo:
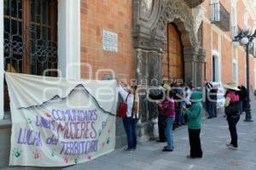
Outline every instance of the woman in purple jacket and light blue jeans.
POLYGON ((170 86, 163 86, 166 91, 166 98, 159 104, 160 114, 166 116, 166 128, 165 135, 167 140, 167 145, 163 151, 173 150, 173 136, 172 136, 172 126, 175 120, 175 104, 173 99, 173 93, 170 86), (169 95, 168 95, 169 94, 169 95))

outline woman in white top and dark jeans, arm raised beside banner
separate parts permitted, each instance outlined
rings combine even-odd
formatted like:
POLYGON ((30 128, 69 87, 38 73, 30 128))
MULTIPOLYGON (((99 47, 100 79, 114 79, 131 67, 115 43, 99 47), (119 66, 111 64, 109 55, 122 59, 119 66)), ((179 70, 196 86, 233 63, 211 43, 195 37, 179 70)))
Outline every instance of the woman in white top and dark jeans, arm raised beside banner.
POLYGON ((123 118, 125 133, 127 137, 128 147, 125 151, 132 151, 137 149, 137 133, 136 123, 138 120, 138 96, 136 94, 137 86, 128 86, 124 82, 119 85, 119 94, 127 103, 126 116, 123 118))

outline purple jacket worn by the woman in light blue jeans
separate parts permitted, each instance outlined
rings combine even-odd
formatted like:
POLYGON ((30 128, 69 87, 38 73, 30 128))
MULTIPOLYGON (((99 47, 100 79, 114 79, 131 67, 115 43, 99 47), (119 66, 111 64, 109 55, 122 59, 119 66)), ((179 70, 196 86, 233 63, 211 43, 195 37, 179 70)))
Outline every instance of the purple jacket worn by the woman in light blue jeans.
POLYGON ((160 108, 161 114, 175 118, 174 99, 165 99, 164 101, 161 102, 161 104, 163 105, 162 108, 160 108))

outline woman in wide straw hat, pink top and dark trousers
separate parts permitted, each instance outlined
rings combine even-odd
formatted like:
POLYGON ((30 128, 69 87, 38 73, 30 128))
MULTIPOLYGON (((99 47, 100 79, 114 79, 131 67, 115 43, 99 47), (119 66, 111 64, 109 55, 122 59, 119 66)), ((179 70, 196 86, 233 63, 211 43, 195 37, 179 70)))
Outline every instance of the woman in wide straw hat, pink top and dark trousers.
POLYGON ((225 95, 225 115, 227 116, 227 121, 229 123, 231 142, 226 144, 230 149, 236 150, 237 144, 237 132, 236 124, 240 119, 239 114, 239 95, 237 92, 239 88, 236 88, 236 82, 231 82, 224 85, 227 89, 225 95))

